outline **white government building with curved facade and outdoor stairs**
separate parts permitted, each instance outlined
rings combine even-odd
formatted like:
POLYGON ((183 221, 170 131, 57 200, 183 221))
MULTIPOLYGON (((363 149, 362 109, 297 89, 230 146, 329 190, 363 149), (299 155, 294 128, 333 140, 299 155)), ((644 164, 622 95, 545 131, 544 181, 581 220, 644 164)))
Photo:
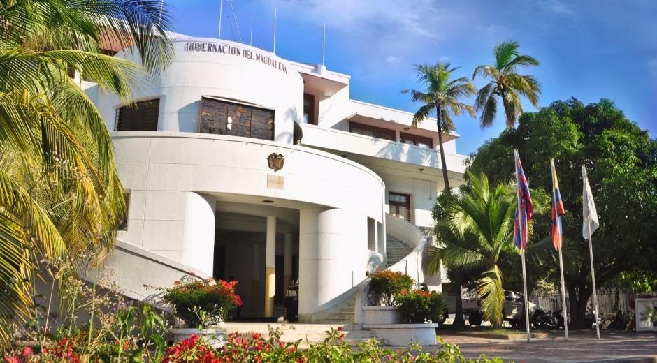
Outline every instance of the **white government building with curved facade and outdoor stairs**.
MULTIPOLYGON (((298 279, 300 320, 349 323, 339 308, 377 267, 440 286, 421 273, 416 227, 432 225, 443 188, 435 120, 413 128, 409 112, 354 101, 350 77, 324 66, 214 38, 174 44, 161 81, 135 90, 136 108, 87 89, 129 191, 108 261, 127 295, 145 299, 145 284, 189 272, 235 276, 242 316, 273 317, 298 279)), ((445 138, 452 186, 458 137, 445 138)))

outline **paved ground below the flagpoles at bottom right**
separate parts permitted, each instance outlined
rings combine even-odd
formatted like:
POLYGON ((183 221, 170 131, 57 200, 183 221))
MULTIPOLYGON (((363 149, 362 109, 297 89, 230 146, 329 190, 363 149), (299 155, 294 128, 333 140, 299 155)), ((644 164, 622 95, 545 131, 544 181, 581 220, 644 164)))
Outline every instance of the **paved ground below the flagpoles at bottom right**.
MULTIPOLYGON (((549 331, 548 331, 549 332, 549 331)), ((503 341, 456 336, 454 332, 438 330, 438 335, 461 348, 464 357, 476 358, 484 353, 514 362, 650 362, 657 363, 657 333, 600 332, 595 330, 570 332, 565 341, 563 330, 551 331, 553 339, 503 341), (642 358, 642 359, 639 359, 642 358)), ((428 348, 428 347, 427 347, 428 348)), ((427 350, 428 351, 428 350, 427 350)))

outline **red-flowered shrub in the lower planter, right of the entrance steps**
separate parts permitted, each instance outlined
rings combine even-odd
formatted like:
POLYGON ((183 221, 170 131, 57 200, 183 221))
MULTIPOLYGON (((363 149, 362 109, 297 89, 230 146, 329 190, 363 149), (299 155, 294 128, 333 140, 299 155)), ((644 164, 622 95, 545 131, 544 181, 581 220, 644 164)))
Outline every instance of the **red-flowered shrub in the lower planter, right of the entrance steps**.
POLYGON ((424 323, 424 320, 442 316, 447 303, 442 294, 422 290, 402 291, 395 297, 404 323, 424 323))

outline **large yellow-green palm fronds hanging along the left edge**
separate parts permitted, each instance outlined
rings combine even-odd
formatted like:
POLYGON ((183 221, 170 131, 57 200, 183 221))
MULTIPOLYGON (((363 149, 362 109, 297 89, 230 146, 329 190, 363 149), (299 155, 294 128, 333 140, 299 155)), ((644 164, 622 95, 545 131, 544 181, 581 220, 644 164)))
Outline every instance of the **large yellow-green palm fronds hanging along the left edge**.
POLYGON ((11 0, 0 28, 0 318, 11 319, 34 315, 41 260, 79 265, 110 249, 126 215, 110 135, 69 71, 129 103, 171 61, 173 27, 159 0, 11 0), (108 39, 135 45, 141 65, 103 54, 108 39))

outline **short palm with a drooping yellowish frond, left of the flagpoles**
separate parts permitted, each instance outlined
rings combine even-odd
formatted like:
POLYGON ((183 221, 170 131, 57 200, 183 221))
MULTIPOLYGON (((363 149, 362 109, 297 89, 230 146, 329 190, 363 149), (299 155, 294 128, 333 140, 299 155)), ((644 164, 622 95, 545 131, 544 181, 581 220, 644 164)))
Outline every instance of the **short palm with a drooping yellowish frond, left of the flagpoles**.
MULTIPOLYGON (((431 246, 424 262, 427 274, 438 274, 440 265, 459 269, 470 276, 479 276, 477 291, 482 297, 484 320, 500 325, 503 320, 503 262, 517 262, 514 246, 514 213, 516 191, 514 183, 490 186, 486 175, 466 171, 468 184, 461 193, 449 198, 434 232, 440 246, 431 246)), ((534 192, 536 211, 542 211, 541 193, 534 192)), ((535 244, 533 260, 553 262, 547 243, 535 244)), ((529 253, 529 249, 528 249, 529 253)), ((457 291, 458 296, 460 291, 457 291)))

